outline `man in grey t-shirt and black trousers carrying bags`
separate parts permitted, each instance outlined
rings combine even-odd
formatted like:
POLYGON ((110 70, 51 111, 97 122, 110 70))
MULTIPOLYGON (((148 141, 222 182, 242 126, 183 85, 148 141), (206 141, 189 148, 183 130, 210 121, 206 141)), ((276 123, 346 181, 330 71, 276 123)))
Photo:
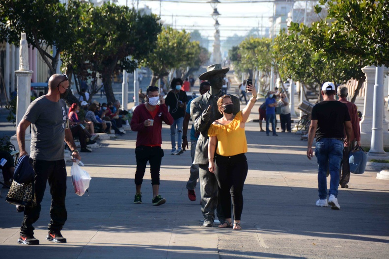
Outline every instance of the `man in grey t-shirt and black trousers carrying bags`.
POLYGON ((74 144, 72 132, 67 127, 65 102, 60 98, 66 96, 69 81, 66 75, 55 74, 49 79, 49 92, 33 101, 16 130, 20 156, 28 155, 25 147, 26 129, 32 124, 31 154, 34 169, 36 206, 25 207, 24 219, 20 228, 18 243, 38 245, 39 240, 33 236, 32 224, 39 218, 41 202, 49 181, 52 204, 51 221, 46 239, 56 243, 66 243, 61 230, 67 219, 65 207, 66 168, 63 141, 72 150, 73 159, 81 160, 74 144))

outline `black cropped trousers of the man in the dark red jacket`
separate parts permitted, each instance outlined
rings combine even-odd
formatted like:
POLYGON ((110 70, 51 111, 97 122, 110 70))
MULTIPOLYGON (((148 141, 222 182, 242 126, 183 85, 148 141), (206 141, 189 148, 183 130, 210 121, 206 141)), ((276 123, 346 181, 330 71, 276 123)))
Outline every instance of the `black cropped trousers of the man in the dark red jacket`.
POLYGON ((137 171, 135 172, 135 184, 143 182, 147 161, 150 164, 151 184, 160 184, 160 168, 164 151, 161 147, 139 146, 135 149, 137 158, 137 171))

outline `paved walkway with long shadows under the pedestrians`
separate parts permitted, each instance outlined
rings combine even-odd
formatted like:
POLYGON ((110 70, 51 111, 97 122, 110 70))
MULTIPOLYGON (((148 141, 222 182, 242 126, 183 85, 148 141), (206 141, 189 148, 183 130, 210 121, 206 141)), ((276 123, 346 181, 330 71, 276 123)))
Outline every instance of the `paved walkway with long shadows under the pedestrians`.
MULTIPOLYGON (((185 188, 190 152, 169 155, 169 129, 164 126, 160 192, 165 205, 151 206, 148 172, 143 204, 133 204, 136 132, 100 141, 103 148, 82 154, 84 169, 92 177, 89 196, 74 194, 68 178, 68 220, 62 231, 68 243, 45 240, 49 189, 34 225, 39 246, 17 244, 23 215, 3 197, 0 258, 389 258, 388 181, 377 180, 376 172, 352 175, 350 188, 339 190, 340 210, 316 207, 317 163, 306 158, 306 142, 293 133, 266 136, 258 132, 257 123, 248 123, 246 134, 244 230, 202 227, 199 200, 189 201, 185 188)), ((70 164, 67 171, 70 176, 70 164)))

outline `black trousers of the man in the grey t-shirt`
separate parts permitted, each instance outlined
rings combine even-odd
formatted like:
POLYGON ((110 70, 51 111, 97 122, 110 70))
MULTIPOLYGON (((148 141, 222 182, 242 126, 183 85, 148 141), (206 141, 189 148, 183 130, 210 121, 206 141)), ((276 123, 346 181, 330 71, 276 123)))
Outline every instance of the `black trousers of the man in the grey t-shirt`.
POLYGON ((35 173, 35 195, 36 206, 25 207, 24 219, 20 233, 33 235, 32 224, 39 219, 41 202, 46 189, 46 182, 49 181, 52 204, 50 207, 51 221, 48 225, 49 231, 60 231, 67 219, 65 207, 66 197, 66 167, 65 160, 46 161, 33 160, 32 168, 35 173))

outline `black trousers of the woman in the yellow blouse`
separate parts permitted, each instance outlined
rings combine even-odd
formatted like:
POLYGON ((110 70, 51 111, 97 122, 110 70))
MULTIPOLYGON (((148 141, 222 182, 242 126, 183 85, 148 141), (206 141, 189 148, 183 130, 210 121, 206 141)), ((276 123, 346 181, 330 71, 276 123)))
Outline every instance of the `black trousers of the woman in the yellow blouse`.
POLYGON ((249 166, 245 154, 215 155, 215 176, 220 187, 219 195, 225 218, 231 218, 231 199, 234 220, 240 220, 243 210, 243 185, 249 166))

